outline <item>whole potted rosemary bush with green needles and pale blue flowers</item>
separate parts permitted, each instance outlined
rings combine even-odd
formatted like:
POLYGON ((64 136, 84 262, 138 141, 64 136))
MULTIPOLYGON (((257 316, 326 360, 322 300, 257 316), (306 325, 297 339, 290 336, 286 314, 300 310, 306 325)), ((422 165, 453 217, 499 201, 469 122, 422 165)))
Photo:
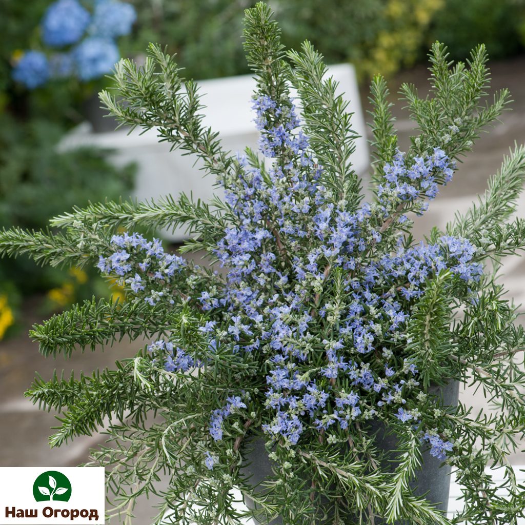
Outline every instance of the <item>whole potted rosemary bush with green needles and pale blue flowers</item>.
POLYGON ((263 521, 450 523, 409 487, 429 448, 457 472, 466 505, 454 523, 516 523, 525 487, 507 457, 523 436, 525 338, 495 276, 502 257, 525 245, 525 222, 512 218, 525 149, 445 231, 419 244, 410 234, 508 102, 505 90, 486 101, 484 46, 452 65, 436 43, 430 95, 402 86, 417 123, 405 153, 386 83, 374 78, 369 204, 349 162, 351 116, 322 57, 308 42, 283 49, 262 3, 246 11, 244 37, 260 154, 222 149, 201 123, 197 85, 183 83, 158 46, 143 67, 121 61, 116 95, 101 93, 123 124, 156 128, 201 159, 224 199, 92 204, 52 219, 54 230, 0 236, 3 254, 94 264, 127 289, 123 304, 93 299, 36 325, 43 354, 153 340, 115 370, 36 380, 27 395, 62 413, 51 445, 105 428, 109 444, 92 459, 107 469, 110 515, 130 522, 137 498, 155 494, 155 523, 240 523, 251 511, 235 509, 235 485, 263 521), (224 272, 133 233, 180 225, 191 233, 182 253, 204 253, 224 272), (477 385, 498 411, 443 406, 430 387, 454 380, 477 385), (383 466, 373 422, 397 436, 394 469, 383 466), (257 438, 275 462, 263 496, 241 472, 257 438), (506 498, 487 466, 503 470, 506 498))

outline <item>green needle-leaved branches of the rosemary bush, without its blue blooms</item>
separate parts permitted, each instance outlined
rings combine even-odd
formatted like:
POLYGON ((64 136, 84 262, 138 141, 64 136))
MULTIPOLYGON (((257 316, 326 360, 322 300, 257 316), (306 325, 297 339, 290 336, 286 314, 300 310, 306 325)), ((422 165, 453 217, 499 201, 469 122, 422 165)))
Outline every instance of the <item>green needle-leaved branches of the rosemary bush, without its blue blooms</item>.
MULTIPOLYGON (((271 96, 279 101, 279 109, 282 106, 288 110, 288 86, 297 88, 302 99, 304 130, 311 136, 309 147, 314 159, 325 167, 319 176, 326 202, 340 206, 342 213, 354 211, 362 198, 360 181, 348 163, 355 135, 344 103, 334 97, 333 80, 322 78, 325 68, 320 55, 308 43, 301 51, 285 53, 279 28, 272 21, 270 9, 262 3, 246 13, 245 45, 249 65, 257 76, 258 96, 271 96)), ((486 61, 484 46, 472 51, 467 64, 452 64, 444 45, 433 46, 430 95, 420 98, 411 86, 403 86, 401 91, 403 103, 407 103, 418 126, 406 153, 407 160, 417 161, 434 148, 459 159, 471 149, 479 133, 500 116, 508 93, 504 90, 487 102, 486 61)), ((161 140, 201 159, 204 171, 226 188, 246 180, 241 161, 222 149, 213 130, 201 125, 202 104, 196 84, 186 82, 183 87, 174 58, 161 47, 150 47, 142 68, 129 60, 122 61, 116 82, 117 96, 103 92, 101 98, 123 124, 144 130, 158 128, 161 140)), ((375 221, 371 223, 376 228, 373 233, 380 237, 370 235, 366 239, 368 244, 358 264, 364 264, 363 259, 376 264, 400 248, 399 239, 401 247, 413 246, 409 233, 413 221, 398 223, 397 219, 423 211, 421 201, 381 199, 377 183, 385 164, 393 162, 397 144, 388 90, 381 76, 372 82, 371 100, 377 199, 369 211, 370 220, 375 221)), ((284 121, 283 112, 280 109, 269 125, 277 127, 284 121)), ((261 179, 271 180, 265 162, 255 152, 248 150, 246 154, 251 169, 258 171, 261 179)), ((291 165, 298 169, 282 145, 276 146, 276 158, 279 168, 291 165)), ((408 367, 415 364, 419 369, 411 379, 401 376, 407 378, 403 384, 411 383, 407 389, 418 385, 417 394, 413 395, 417 400, 417 422, 403 422, 388 409, 380 409, 381 405, 373 405, 377 407, 374 413, 378 423, 397 437, 396 450, 390 451, 394 460, 377 441, 376 430, 369 421, 372 405, 363 404, 361 418, 352 419, 346 429, 324 432, 323 428, 323 432, 315 433, 309 429, 295 446, 285 439, 268 437, 262 425, 269 420, 266 402, 271 393, 267 374, 272 370, 270 358, 274 353, 266 343, 254 351, 239 351, 239 347, 243 348, 240 345, 247 342, 237 345, 235 332, 230 330, 228 308, 219 303, 209 312, 198 300, 203 292, 213 293, 224 286, 223 276, 189 263, 170 281, 171 288, 166 287, 172 301, 148 302, 148 297, 140 292, 122 305, 93 298, 33 328, 31 337, 38 340, 45 355, 63 352, 69 356, 76 348, 95 350, 98 345, 111 345, 122 337, 140 340, 160 334, 173 344, 174 358, 176 352, 186 350, 200 365, 174 366, 170 370, 164 366, 166 354, 162 348, 151 345, 147 351, 139 350, 134 358, 117 363, 114 371, 80 375, 78 379, 54 376, 48 382, 37 378, 27 396, 42 407, 61 413, 51 445, 102 428, 107 432, 108 445, 93 451, 92 461, 106 467, 108 492, 114 503, 109 517, 123 515, 127 523, 133 520, 139 497, 156 495, 161 498, 156 524, 239 525, 241 519, 254 513, 235 510, 235 496, 230 489, 237 486, 243 498, 257 503, 255 514, 262 522, 280 516, 283 523, 290 525, 373 524, 376 519, 389 524, 516 524, 518 517, 523 517, 525 488, 516 483, 508 457, 524 435, 525 336, 516 323, 516 309, 503 297, 497 269, 502 257, 525 248, 525 221, 510 222, 522 188, 523 158, 523 148, 516 148, 491 178, 479 203, 466 214, 457 215, 446 232, 434 228, 429 233, 433 243, 444 233, 468 237, 474 252, 472 260, 493 260, 495 271, 468 281, 448 267, 428 272, 423 295, 407 303, 410 319, 406 330, 387 334, 384 340, 392 339, 385 342, 388 349, 383 354, 375 349, 369 353, 369 361, 361 361, 362 365, 385 370, 385 351, 390 350, 394 362, 401 367, 400 373, 406 374, 408 367), (217 325, 213 336, 208 335, 205 325, 210 320, 217 325), (444 405, 432 389, 449 381, 481 388, 498 410, 490 415, 484 411, 473 415, 463 404, 444 405), (240 389, 245 410, 232 405, 230 410, 235 417, 224 422, 222 438, 212 439, 210 415, 240 389), (154 421, 148 419, 150 416, 156 416, 154 421), (446 463, 457 471, 466 503, 463 514, 453 521, 411 489, 411 481, 422 465, 422 429, 450 444, 446 463), (250 484, 243 468, 254 440, 265 436, 274 475, 267 478, 261 491, 250 484), (205 458, 212 460, 211 468, 205 458), (502 487, 486 473, 487 466, 504 471, 502 487, 507 489, 508 497, 501 496, 502 487), (162 475, 167 477, 166 488, 159 483, 162 475)), ((104 256, 110 253, 111 237, 118 228, 187 224, 193 238, 183 249, 204 249, 213 262, 213 250, 225 230, 238 226, 238 216, 230 202, 214 199, 206 204, 181 196, 148 203, 119 201, 76 207, 51 221, 58 231, 4 230, 0 233, 0 254, 28 255, 41 264, 55 266, 93 263, 102 256, 99 264, 103 266, 104 256)), ((311 216, 308 219, 314 220, 311 216)), ((278 217, 266 212, 261 216, 263 221, 271 232, 268 243, 279 271, 293 268, 294 256, 301 250, 308 253, 313 239, 304 239, 304 246, 299 242, 287 245, 289 238, 279 229, 278 217)), ((359 269, 343 270, 330 257, 318 276, 312 274, 308 289, 311 293, 303 298, 313 328, 309 327, 303 338, 295 334, 289 338, 297 345, 293 348, 309 352, 310 368, 304 373, 316 377, 327 392, 350 389, 355 384, 346 375, 329 379, 317 372, 327 365, 324 340, 335 343, 339 339, 341 310, 353 293, 349 283, 359 279, 359 269)), ((240 263, 230 269, 239 268, 243 268, 240 263)), ((143 276, 144 280, 149 278, 146 272, 143 276)), ((299 282, 294 284, 301 286, 299 282)), ((125 285, 128 291, 132 290, 128 281, 125 285)), ((406 291, 405 285, 398 285, 397 281, 381 281, 381 298, 390 295, 404 301, 401 292, 406 291)), ((272 281, 269 289, 275 293, 279 286, 282 285, 277 280, 272 281)), ((274 303, 272 296, 267 303, 274 303)), ((375 307, 363 303, 363 308, 367 309, 366 315, 372 316, 375 307)), ((264 314, 270 318, 269 306, 264 314)), ((293 319, 296 313, 290 309, 286 315, 293 319)), ((265 327, 266 321, 263 319, 260 325, 265 327)), ((377 321, 380 329, 381 323, 382 319, 377 321)), ((255 325, 252 328, 259 330, 255 325)), ((351 355, 352 359, 360 359, 355 351, 351 355)), ((299 367, 298 370, 304 371, 299 367)), ((362 388, 363 403, 375 403, 375 394, 370 391, 368 396, 363 391, 362 388)), ((410 391, 404 392, 408 401, 415 403, 409 397, 410 391)), ((402 411, 403 402, 396 403, 402 411)))

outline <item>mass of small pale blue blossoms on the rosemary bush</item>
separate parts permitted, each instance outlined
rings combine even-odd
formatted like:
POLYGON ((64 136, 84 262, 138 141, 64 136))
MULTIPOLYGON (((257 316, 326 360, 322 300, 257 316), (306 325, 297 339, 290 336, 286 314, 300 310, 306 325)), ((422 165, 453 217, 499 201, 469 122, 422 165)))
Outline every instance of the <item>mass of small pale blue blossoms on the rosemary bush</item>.
MULTIPOLYGON (((235 220, 215 255, 228 272, 222 287, 196 299, 209 318, 201 331, 215 341, 227 334, 235 352, 266 356, 262 429, 289 446, 308 428, 329 435, 352 422, 385 419, 387 412, 418 425, 418 370, 409 356, 399 357, 411 308, 441 271, 468 285, 482 268, 472 262, 476 250, 466 239, 405 246, 385 224, 400 216, 400 204, 421 213, 419 202, 436 196, 436 181, 449 181, 454 164, 438 148, 410 161, 397 152, 384 167, 379 202, 351 211, 344 202, 334 204, 321 183, 322 166, 297 130, 293 102, 279 106, 260 97, 254 109, 261 153, 281 162, 266 170, 239 157, 240 176, 223 181, 235 220)), ((184 268, 157 241, 136 234, 114 237, 112 245, 99 268, 145 293, 152 305, 184 268)), ((162 348, 169 351, 169 369, 190 366, 179 349, 162 348)), ((223 438, 227 418, 247 407, 242 396, 214 409, 209 434, 215 441, 223 438)), ((450 449, 437 437, 428 440, 436 457, 450 449)))

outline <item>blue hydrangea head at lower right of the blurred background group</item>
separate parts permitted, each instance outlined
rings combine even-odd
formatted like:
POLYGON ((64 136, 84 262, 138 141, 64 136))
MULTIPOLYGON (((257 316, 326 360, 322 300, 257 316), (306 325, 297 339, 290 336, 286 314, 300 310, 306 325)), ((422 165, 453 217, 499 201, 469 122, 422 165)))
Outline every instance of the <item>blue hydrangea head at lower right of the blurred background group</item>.
POLYGON ((107 75, 120 58, 119 50, 112 40, 95 36, 82 40, 73 53, 78 76, 82 80, 107 75))

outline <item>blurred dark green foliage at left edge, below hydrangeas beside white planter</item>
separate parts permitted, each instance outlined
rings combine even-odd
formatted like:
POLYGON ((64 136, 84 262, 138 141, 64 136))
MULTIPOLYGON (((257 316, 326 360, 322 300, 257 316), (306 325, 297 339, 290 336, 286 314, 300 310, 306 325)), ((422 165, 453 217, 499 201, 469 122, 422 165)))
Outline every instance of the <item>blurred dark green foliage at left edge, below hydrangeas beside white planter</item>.
MULTIPOLYGON (((64 207, 130 191, 132 165, 118 169, 107 152, 90 148, 59 152, 60 125, 22 124, 8 115, 0 121, 0 227, 41 228, 64 207)), ((0 280, 12 282, 24 295, 60 286, 66 275, 26 260, 0 262, 0 280)))

